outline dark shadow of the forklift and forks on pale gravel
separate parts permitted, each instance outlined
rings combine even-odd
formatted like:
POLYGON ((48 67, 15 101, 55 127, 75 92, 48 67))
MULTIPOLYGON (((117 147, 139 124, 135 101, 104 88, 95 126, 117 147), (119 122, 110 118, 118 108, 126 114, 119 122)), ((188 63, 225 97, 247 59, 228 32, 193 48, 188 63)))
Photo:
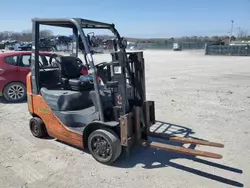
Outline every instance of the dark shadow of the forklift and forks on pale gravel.
MULTIPOLYGON (((187 127, 174 125, 170 123, 164 123, 164 122, 158 122, 158 123, 161 124, 161 127, 157 127, 156 130, 162 129, 164 130, 165 134, 194 138, 190 136, 191 134, 194 134, 194 132, 187 127), (162 126, 164 125, 165 127, 162 128, 162 126)), ((159 141, 158 139, 150 139, 150 140, 159 141)), ((163 143, 165 142, 165 143, 175 145, 175 146, 183 145, 178 142, 172 142, 172 141, 170 142, 170 141, 165 141, 165 140, 164 141, 161 140, 161 142, 163 143)), ((188 148, 195 149, 195 147, 196 145, 191 144, 188 148)), ((186 171, 186 172, 189 172, 189 173, 192 173, 192 174, 204 177, 204 178, 218 181, 227 185, 231 185, 235 187, 243 187, 243 184, 240 182, 227 179, 224 177, 220 177, 214 174, 210 174, 208 172, 203 172, 201 170, 190 168, 181 164, 177 164, 172 161, 173 159, 181 159, 181 158, 192 160, 193 162, 202 163, 205 165, 213 166, 213 167, 220 168, 220 169, 227 170, 227 171, 234 172, 234 173, 239 173, 239 174, 243 173, 241 169, 218 164, 218 163, 211 162, 205 159, 196 158, 195 156, 177 154, 177 153, 151 149, 151 148, 142 148, 142 147, 135 147, 131 151, 130 156, 128 158, 126 157, 126 155, 122 155, 120 159, 114 163, 113 166, 119 167, 119 168, 132 168, 136 166, 137 164, 143 164, 143 168, 145 169, 172 167, 172 168, 183 170, 183 171, 186 171)))

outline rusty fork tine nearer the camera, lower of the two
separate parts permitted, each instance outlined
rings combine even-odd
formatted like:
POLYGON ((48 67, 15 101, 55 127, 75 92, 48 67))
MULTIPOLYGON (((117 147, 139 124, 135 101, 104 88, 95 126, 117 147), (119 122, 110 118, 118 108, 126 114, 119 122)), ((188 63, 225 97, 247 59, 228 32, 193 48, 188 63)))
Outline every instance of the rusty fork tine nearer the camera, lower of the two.
POLYGON ((182 153, 186 155, 202 156, 202 157, 213 158, 213 159, 222 159, 222 156, 216 153, 194 150, 194 149, 187 149, 184 147, 172 146, 169 144, 163 144, 159 142, 142 141, 141 145, 144 147, 162 149, 162 150, 175 152, 175 153, 182 153))

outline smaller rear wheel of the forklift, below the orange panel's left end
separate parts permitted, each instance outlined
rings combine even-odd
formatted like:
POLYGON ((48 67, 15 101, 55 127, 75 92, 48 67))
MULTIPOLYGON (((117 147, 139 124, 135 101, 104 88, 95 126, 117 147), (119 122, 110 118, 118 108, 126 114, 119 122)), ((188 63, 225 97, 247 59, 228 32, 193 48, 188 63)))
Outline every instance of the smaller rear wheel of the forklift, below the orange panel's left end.
POLYGON ((48 136, 45 124, 39 117, 33 117, 29 122, 30 131, 33 136, 37 138, 44 138, 48 136))

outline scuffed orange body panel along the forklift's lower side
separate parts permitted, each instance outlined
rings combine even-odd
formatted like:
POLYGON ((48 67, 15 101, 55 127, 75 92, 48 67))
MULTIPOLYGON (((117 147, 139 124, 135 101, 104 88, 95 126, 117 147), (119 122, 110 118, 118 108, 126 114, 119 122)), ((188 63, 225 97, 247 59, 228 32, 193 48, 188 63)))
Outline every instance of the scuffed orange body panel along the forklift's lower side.
POLYGON ((32 94, 31 74, 27 75, 28 107, 32 114, 39 116, 51 137, 83 148, 83 135, 69 130, 53 113, 41 95, 32 94))

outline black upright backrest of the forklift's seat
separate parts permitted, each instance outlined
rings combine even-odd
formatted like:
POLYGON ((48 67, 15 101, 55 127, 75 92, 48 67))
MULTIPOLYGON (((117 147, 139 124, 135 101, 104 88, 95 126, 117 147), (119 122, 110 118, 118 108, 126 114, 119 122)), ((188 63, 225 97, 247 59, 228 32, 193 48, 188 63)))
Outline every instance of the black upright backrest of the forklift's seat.
POLYGON ((72 56, 61 56, 57 57, 61 66, 61 76, 63 78, 79 78, 81 68, 77 63, 77 58, 72 56))

